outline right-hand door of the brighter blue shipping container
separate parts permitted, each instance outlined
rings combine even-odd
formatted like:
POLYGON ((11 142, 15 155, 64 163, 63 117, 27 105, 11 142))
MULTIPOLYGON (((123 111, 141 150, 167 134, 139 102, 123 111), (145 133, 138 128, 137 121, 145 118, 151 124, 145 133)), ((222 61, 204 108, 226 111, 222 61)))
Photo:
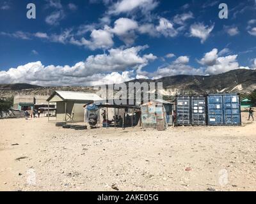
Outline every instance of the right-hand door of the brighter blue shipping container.
POLYGON ((240 99, 238 94, 223 95, 224 123, 227 126, 241 125, 240 99))

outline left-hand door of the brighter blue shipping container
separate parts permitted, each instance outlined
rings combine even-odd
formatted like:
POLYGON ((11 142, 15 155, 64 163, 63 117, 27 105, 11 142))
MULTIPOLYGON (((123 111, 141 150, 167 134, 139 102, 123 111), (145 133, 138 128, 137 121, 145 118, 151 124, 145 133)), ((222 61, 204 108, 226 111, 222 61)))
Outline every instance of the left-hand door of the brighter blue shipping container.
POLYGON ((221 95, 207 96, 208 106, 208 125, 222 126, 224 124, 223 117, 223 97, 221 95))

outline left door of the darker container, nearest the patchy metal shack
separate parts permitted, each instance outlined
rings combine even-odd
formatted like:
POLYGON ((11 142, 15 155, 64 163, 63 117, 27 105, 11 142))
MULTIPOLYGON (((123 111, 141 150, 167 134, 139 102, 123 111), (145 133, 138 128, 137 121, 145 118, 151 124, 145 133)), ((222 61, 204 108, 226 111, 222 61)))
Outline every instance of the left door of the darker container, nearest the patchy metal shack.
POLYGON ((189 126, 190 124, 190 97, 177 96, 176 98, 176 124, 189 126))

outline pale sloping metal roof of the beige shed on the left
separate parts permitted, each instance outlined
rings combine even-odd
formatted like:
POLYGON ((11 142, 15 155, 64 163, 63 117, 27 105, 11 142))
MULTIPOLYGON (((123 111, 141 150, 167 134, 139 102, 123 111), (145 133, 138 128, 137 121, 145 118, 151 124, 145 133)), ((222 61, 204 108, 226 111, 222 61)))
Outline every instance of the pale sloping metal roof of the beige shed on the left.
POLYGON ((65 100, 74 100, 74 101, 96 101, 101 100, 97 94, 88 93, 88 92, 73 92, 73 91, 56 91, 61 98, 65 100))

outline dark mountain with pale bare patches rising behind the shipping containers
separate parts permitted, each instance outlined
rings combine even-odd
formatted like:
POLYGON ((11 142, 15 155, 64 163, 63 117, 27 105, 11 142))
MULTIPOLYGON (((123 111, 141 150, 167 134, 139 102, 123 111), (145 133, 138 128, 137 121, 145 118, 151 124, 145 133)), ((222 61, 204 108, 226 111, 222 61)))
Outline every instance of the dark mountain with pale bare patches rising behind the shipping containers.
POLYGON ((163 94, 204 94, 216 92, 250 93, 256 89, 256 70, 236 69, 220 75, 176 75, 157 80, 132 80, 131 82, 163 82, 163 94))

